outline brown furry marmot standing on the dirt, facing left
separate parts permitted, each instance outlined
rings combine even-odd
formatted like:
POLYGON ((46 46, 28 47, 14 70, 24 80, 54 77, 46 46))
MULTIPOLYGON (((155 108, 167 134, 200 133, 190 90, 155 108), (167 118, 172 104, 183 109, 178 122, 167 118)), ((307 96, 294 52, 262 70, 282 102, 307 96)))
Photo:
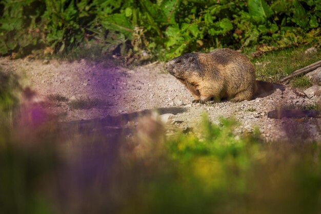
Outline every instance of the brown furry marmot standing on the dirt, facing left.
POLYGON ((252 63, 228 48, 184 54, 166 63, 166 69, 192 93, 193 103, 251 100, 257 91, 252 63))

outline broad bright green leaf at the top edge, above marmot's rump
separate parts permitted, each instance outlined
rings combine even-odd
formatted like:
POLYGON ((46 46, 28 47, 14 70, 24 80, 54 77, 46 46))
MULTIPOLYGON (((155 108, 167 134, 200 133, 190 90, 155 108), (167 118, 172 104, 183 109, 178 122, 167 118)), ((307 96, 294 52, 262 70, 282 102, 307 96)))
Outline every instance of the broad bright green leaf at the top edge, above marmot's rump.
POLYGON ((249 0, 248 7, 251 16, 261 17, 266 20, 273 15, 273 11, 265 0, 249 0))

